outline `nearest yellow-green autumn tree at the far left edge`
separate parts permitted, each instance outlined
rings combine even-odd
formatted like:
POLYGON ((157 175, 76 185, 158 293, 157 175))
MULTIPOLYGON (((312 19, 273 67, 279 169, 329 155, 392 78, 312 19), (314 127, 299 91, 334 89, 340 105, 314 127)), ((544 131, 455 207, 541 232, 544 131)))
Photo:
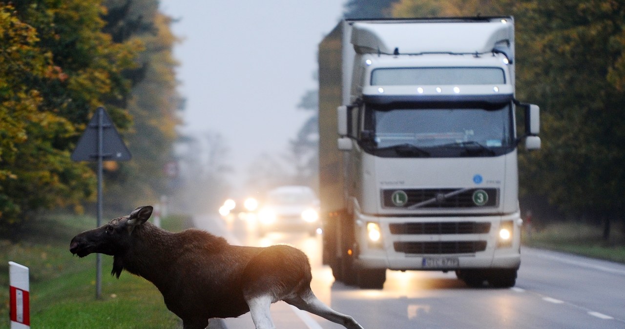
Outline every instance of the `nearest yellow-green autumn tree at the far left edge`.
MULTIPOLYGON (((92 112, 128 93, 122 72, 140 49, 102 33, 102 11, 95 0, 0 4, 2 232, 42 209, 81 210, 94 197, 93 172, 69 154, 92 112)), ((108 108, 118 127, 128 127, 124 109, 108 108)))

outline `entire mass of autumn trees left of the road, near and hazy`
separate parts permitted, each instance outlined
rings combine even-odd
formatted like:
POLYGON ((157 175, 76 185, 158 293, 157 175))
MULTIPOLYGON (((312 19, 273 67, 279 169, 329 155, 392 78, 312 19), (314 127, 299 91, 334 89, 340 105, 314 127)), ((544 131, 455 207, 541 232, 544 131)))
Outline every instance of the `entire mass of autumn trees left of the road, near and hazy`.
POLYGON ((169 24, 157 0, 0 3, 0 234, 94 201, 94 165, 69 155, 99 106, 134 158, 105 166, 108 200, 163 194, 179 124, 169 24))

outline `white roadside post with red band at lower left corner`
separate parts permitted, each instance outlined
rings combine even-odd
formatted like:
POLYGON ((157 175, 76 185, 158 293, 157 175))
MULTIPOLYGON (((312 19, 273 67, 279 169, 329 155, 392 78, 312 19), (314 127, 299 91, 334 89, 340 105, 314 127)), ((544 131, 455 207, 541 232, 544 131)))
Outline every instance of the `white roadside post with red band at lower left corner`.
POLYGON ((28 268, 9 262, 9 294, 11 301, 11 329, 31 327, 30 287, 28 268))

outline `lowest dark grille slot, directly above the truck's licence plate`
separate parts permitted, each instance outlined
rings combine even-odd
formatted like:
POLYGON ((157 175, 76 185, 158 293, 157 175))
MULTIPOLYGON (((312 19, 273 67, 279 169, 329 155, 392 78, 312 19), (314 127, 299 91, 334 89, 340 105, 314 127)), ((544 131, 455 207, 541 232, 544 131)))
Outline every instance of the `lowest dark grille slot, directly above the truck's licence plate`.
POLYGON ((442 255, 486 250, 486 241, 394 242, 396 252, 442 255))

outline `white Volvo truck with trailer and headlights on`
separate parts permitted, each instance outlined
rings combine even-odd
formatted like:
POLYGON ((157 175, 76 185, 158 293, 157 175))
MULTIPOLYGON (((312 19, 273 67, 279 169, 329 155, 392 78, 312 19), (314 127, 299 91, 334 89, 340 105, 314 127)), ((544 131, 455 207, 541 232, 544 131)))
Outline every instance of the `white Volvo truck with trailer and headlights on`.
POLYGON ((541 144, 514 64, 507 16, 343 20, 322 40, 320 215, 336 280, 382 288, 387 269, 441 270, 514 285, 517 145, 541 144))

